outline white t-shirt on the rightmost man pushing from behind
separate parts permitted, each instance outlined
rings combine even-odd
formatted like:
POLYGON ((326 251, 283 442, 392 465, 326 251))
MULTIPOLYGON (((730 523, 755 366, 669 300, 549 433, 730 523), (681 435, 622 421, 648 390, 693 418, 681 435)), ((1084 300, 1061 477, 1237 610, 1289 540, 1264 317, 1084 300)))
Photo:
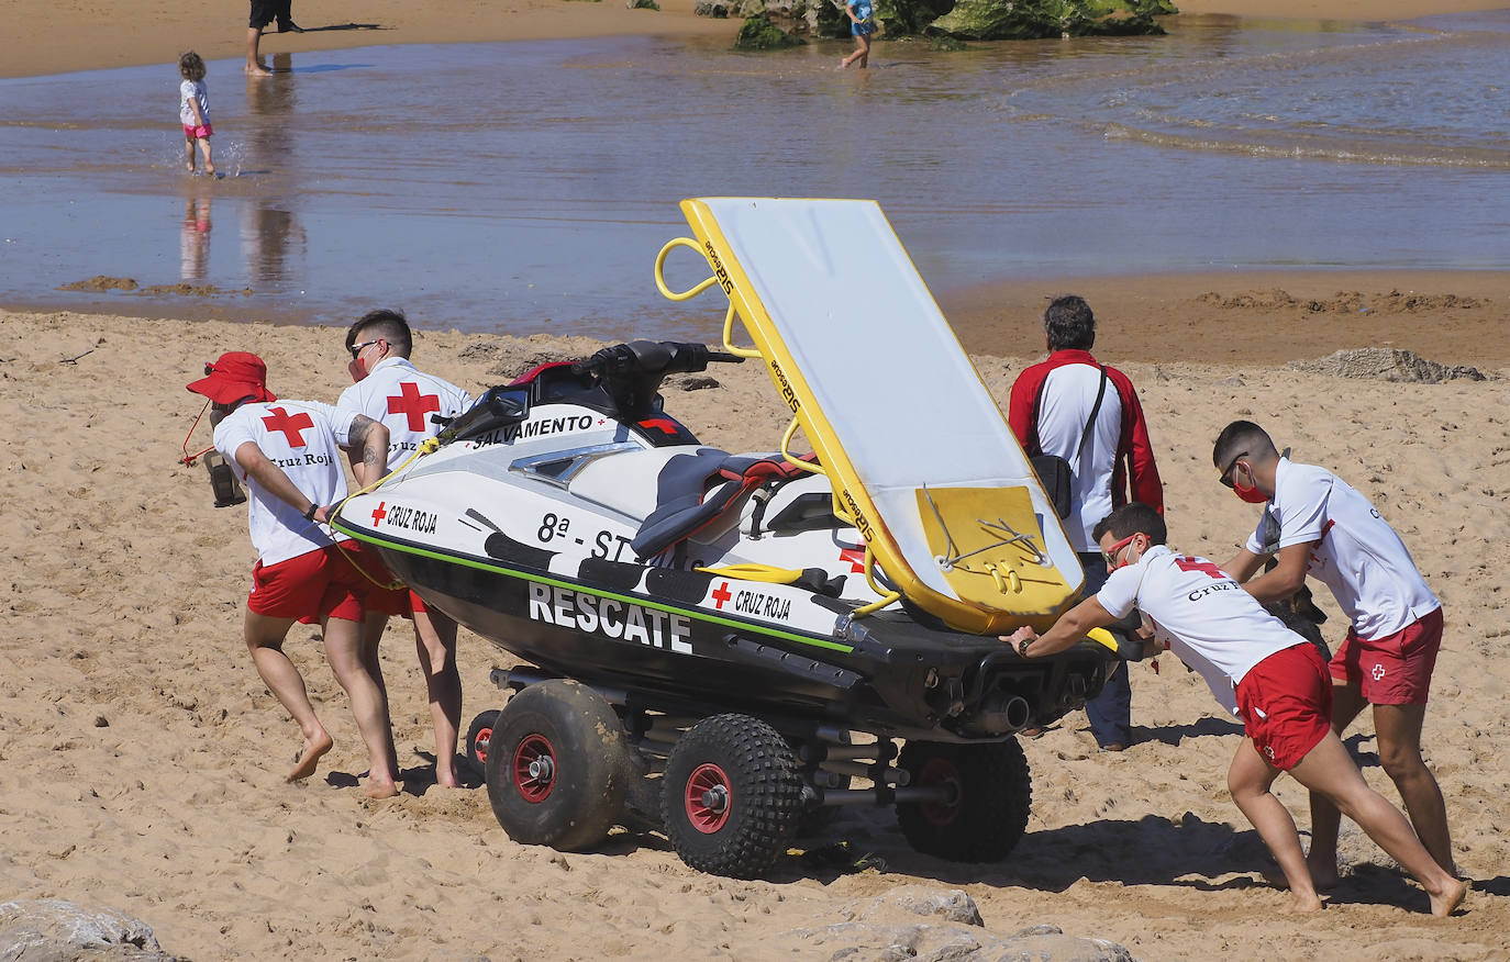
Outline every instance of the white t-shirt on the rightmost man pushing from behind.
POLYGON ((1279 458, 1265 513, 1279 523, 1279 544, 1262 543, 1259 519, 1247 550, 1268 555, 1320 540, 1306 574, 1332 590, 1359 638, 1394 635, 1442 606, 1389 522, 1327 469, 1279 458))

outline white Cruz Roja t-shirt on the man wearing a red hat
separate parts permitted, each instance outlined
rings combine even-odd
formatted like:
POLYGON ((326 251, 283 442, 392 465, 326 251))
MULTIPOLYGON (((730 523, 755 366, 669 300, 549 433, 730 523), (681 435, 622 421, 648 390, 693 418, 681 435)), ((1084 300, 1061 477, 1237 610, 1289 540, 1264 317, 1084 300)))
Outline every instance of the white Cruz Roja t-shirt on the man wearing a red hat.
POLYGON ((243 404, 214 428, 214 449, 233 464, 246 486, 246 520, 252 547, 264 565, 297 558, 331 544, 329 532, 305 520, 299 508, 270 493, 236 460, 246 442, 282 469, 305 498, 317 505, 346 499, 341 446, 350 445, 356 415, 319 401, 266 401, 243 404))

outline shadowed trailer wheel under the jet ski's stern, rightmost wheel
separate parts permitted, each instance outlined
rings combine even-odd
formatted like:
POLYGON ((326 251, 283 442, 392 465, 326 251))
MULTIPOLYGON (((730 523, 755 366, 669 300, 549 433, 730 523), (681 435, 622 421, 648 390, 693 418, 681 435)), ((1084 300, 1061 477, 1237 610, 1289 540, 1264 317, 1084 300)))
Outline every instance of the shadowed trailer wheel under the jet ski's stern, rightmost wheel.
POLYGON ((1016 739, 908 742, 897 760, 914 786, 948 786, 944 802, 897 802, 908 843, 957 862, 1001 861, 1022 838, 1033 805, 1028 760, 1016 739))

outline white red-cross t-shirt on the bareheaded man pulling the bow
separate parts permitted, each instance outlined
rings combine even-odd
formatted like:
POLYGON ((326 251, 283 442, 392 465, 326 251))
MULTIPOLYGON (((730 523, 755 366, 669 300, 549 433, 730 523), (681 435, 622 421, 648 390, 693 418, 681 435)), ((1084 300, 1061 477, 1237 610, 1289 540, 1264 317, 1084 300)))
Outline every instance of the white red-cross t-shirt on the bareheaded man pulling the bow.
POLYGON ((455 418, 473 406, 470 394, 426 374, 408 357, 384 357, 335 403, 344 412, 388 425, 388 469, 393 470, 439 431, 430 415, 455 418))

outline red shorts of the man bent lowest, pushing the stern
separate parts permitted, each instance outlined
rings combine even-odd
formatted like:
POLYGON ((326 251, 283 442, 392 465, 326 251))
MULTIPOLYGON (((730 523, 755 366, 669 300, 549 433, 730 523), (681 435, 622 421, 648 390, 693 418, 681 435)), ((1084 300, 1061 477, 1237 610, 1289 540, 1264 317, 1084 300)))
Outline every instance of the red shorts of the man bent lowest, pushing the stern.
POLYGON ((1309 641, 1274 651, 1237 686, 1243 730, 1276 769, 1288 772, 1332 731, 1332 682, 1309 641))

